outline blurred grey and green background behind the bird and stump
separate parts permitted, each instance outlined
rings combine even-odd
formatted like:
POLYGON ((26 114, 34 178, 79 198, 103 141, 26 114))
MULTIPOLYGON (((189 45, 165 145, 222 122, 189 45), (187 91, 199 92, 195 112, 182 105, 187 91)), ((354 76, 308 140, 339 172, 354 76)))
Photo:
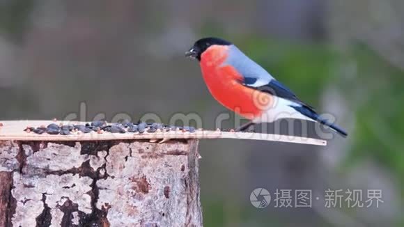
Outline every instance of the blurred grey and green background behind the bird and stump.
MULTIPOLYGON (((404 226, 404 1, 0 1, 0 119, 227 112, 183 57, 231 40, 350 133, 329 146, 201 141, 205 226, 404 226), (264 187, 313 208, 254 208, 264 187), (325 208, 325 189, 381 189, 379 208, 325 208)), ((231 125, 228 125, 231 127, 231 125)), ((344 206, 343 206, 344 207, 344 206)))

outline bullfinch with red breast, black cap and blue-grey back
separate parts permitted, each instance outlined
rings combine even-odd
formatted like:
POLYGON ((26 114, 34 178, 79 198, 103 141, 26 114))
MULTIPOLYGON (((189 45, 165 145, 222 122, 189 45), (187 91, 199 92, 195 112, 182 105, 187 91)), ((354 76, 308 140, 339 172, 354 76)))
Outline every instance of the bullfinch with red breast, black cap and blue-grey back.
POLYGON ((302 102, 288 87, 274 79, 231 42, 220 38, 202 38, 194 43, 185 56, 199 61, 203 79, 218 102, 251 120, 239 127, 238 131, 256 123, 295 118, 316 121, 342 136, 348 135, 319 116, 313 107, 302 102))

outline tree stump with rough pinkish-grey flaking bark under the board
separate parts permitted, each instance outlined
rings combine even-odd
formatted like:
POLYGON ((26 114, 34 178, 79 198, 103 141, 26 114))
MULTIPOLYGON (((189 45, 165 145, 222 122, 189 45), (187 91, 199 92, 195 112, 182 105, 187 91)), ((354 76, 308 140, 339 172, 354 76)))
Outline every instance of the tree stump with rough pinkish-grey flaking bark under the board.
POLYGON ((198 141, 0 141, 0 226, 202 226, 198 141))

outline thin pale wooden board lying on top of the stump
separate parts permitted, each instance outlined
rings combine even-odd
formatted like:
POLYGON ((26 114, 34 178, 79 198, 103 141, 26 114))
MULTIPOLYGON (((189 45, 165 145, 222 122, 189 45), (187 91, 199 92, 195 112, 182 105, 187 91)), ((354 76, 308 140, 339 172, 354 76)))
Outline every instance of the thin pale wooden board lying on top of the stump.
POLYGON ((75 121, 52 121, 52 120, 18 120, 18 121, 1 121, 3 126, 0 127, 0 141, 108 141, 108 140, 137 140, 137 139, 251 139, 261 141, 277 141, 286 143, 302 143, 317 146, 326 146, 327 141, 321 139, 313 139, 301 136, 289 136, 280 134, 262 134, 255 132, 223 132, 212 130, 196 130, 195 132, 169 131, 169 132, 144 132, 137 133, 109 133, 104 132, 98 134, 91 132, 87 134, 70 134, 70 135, 51 135, 51 134, 35 134, 33 132, 24 132, 26 127, 45 127, 51 123, 63 125, 80 125, 85 124, 75 121))

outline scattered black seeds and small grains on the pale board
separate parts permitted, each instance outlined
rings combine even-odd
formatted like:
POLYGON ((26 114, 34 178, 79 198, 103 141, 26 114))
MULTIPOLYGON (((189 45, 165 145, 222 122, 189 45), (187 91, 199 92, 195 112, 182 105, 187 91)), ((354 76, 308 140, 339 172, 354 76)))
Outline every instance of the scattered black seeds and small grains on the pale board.
POLYGON ((85 125, 57 125, 52 123, 50 125, 42 125, 40 127, 26 127, 25 132, 33 132, 36 134, 52 134, 52 135, 70 135, 77 133, 90 133, 97 132, 102 134, 104 132, 111 133, 139 133, 144 132, 169 132, 169 131, 180 131, 180 132, 195 132, 194 127, 184 126, 178 127, 175 125, 164 125, 161 123, 145 123, 139 121, 138 123, 131 123, 129 121, 123 121, 122 123, 107 123, 104 120, 95 120, 91 123, 86 123, 85 125))

